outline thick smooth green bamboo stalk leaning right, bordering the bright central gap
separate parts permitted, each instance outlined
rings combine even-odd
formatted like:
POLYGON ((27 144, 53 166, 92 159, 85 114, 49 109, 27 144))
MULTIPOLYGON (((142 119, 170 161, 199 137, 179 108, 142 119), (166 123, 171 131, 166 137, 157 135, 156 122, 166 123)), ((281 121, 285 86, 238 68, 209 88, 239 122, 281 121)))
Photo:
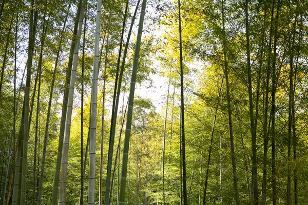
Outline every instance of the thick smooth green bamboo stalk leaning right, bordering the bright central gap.
POLYGON ((119 204, 124 205, 125 203, 125 187, 126 187, 126 175, 127 175, 127 161, 128 161, 128 150, 129 150, 129 137, 131 131, 131 118, 132 118, 132 107, 133 107, 133 97, 134 97, 134 88, 136 84, 136 75, 138 69, 140 45, 141 45, 141 35, 143 29, 143 19, 145 15, 146 0, 142 1, 142 8, 140 14, 140 22, 138 28, 136 49, 133 58, 133 67, 130 80, 130 90, 129 90, 129 102, 127 109, 127 121, 126 121, 126 130, 125 130, 125 139, 124 139, 124 148, 123 148, 123 157, 122 157, 122 172, 121 172, 121 185, 120 185, 120 196, 119 204))

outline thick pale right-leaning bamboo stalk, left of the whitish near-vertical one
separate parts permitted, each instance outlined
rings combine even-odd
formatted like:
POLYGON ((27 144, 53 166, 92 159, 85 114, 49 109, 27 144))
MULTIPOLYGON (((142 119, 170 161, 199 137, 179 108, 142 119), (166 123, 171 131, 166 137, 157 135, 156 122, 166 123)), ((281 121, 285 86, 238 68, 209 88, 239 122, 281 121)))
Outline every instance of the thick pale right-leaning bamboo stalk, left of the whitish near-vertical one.
POLYGON ((66 200, 66 195, 65 195, 66 194, 66 177, 67 177, 68 149, 69 149, 69 138, 70 138, 70 128, 71 128, 72 106, 73 106, 73 98, 74 98, 74 89, 75 89, 76 69, 77 69, 77 63, 78 63, 80 36, 81 36, 83 20, 84 20, 84 12, 85 12, 85 3, 82 2, 81 3, 81 10, 80 10, 80 17, 79 17, 79 24, 78 24, 78 31, 76 33, 76 39, 75 39, 73 64, 72 64, 72 70, 71 70, 69 94, 68 94, 68 101, 67 101, 67 112, 66 112, 66 119, 65 119, 66 120, 65 121, 65 133, 64 133, 64 141, 63 141, 63 151, 62 151, 63 154, 62 154, 62 161, 61 161, 59 205, 65 204, 65 200, 66 200))

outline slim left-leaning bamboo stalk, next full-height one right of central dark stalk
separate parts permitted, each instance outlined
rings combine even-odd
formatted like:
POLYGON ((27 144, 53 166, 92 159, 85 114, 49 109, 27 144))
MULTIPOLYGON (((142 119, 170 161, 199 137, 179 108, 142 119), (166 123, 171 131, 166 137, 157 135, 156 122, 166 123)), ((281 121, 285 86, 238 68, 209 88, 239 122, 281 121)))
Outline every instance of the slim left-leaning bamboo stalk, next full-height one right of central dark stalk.
POLYGON ((237 171, 236 171, 236 161, 235 161, 235 149, 234 149, 234 136, 233 136, 233 122, 232 122, 232 110, 230 102, 230 86, 228 78, 228 64, 227 64, 227 52, 226 52, 226 32, 225 32, 225 15, 224 15, 224 0, 222 0, 222 30, 223 30, 223 55, 224 55, 224 73, 226 78, 226 93, 227 93, 227 109, 228 109, 228 120, 229 120, 229 132, 230 132, 230 144, 231 144, 231 159, 232 159, 232 170, 233 170, 233 184, 234 184, 234 196, 235 203, 239 205, 239 194, 237 185, 237 171))

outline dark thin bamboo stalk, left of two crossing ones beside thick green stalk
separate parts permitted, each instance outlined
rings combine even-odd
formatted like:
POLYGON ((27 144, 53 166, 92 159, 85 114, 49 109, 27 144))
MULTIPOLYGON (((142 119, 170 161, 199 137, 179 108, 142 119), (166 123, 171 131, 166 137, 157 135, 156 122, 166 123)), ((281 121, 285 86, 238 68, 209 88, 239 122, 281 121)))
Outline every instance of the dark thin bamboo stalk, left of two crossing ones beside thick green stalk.
MULTIPOLYGON (((109 136, 109 149, 108 149, 108 162, 107 162, 106 192, 105 192, 105 201, 104 201, 105 205, 109 205, 109 200, 110 200, 109 199, 109 192, 110 192, 114 134, 115 134, 115 126, 117 124, 117 115, 118 115, 118 106, 119 106, 119 100, 117 101, 117 99, 118 99, 117 98, 117 86, 118 86, 118 77, 119 77, 119 69, 120 69, 120 60, 121 60, 121 54, 122 54, 123 36, 124 36, 126 16, 127 16, 127 11, 128 11, 128 2, 129 1, 126 0, 126 7, 125 7, 125 12, 124 12, 124 19, 123 19, 121 39, 120 39, 120 49, 119 49, 119 55, 118 55, 117 70, 116 70, 116 73, 115 73, 115 81, 114 81, 110 136, 109 136)), ((119 85, 119 88, 121 89, 121 85, 119 85)))

